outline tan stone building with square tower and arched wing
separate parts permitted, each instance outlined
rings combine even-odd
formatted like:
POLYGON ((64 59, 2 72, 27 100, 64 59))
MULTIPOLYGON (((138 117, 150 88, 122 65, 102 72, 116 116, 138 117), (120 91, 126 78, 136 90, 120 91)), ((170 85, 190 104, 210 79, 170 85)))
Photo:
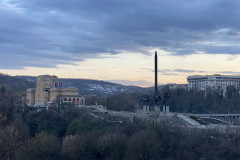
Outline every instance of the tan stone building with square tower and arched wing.
POLYGON ((57 76, 42 75, 37 77, 36 88, 27 89, 27 105, 48 106, 72 103, 85 105, 85 98, 79 96, 78 88, 64 87, 57 76))

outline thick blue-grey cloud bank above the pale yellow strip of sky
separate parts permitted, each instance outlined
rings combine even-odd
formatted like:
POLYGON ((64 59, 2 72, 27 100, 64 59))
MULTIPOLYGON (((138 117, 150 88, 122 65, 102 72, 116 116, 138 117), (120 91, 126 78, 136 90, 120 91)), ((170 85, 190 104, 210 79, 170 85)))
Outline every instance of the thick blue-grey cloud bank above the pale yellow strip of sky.
MULTIPOLYGON (((150 55, 146 47, 177 56, 199 52, 240 54, 237 0, 8 2, 15 7, 0 7, 0 56, 9 54, 5 61, 21 55, 54 67, 100 53, 150 55)), ((3 59, 1 63, 8 67, 3 59)), ((38 66, 19 58, 11 67, 29 65, 38 66)))

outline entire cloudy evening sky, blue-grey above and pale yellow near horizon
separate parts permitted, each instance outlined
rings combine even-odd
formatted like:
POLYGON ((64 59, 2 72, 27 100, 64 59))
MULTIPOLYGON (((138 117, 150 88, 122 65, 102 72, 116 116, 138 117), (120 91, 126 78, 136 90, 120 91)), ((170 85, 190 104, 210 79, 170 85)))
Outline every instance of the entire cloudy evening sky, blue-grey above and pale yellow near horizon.
POLYGON ((239 0, 1 0, 0 73, 153 86, 240 74, 239 0))

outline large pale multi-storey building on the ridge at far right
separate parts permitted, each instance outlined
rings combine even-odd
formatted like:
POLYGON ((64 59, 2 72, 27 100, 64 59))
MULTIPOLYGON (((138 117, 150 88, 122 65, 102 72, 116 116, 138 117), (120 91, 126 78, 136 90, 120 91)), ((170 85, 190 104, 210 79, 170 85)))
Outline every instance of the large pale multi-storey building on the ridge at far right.
POLYGON ((206 90, 207 88, 222 89, 226 91, 227 86, 234 86, 239 89, 240 76, 233 75, 205 75, 205 76, 188 76, 188 88, 189 89, 201 89, 206 90))

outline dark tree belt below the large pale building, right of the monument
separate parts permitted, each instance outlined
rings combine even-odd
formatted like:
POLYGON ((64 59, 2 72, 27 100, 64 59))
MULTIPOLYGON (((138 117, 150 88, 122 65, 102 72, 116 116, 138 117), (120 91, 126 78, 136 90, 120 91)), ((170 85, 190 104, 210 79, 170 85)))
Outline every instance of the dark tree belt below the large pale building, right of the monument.
POLYGON ((227 87, 225 93, 221 89, 201 91, 165 87, 161 97, 175 112, 240 113, 240 94, 233 86, 227 87))

